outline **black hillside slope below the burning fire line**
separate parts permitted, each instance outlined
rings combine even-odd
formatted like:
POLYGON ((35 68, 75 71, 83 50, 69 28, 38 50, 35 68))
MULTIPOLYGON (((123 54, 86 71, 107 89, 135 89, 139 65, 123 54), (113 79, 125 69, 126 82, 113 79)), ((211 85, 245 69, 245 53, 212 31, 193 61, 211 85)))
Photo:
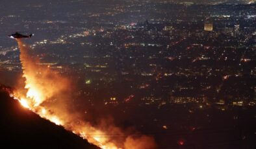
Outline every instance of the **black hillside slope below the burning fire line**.
POLYGON ((97 147, 23 108, 0 88, 0 148, 97 147))

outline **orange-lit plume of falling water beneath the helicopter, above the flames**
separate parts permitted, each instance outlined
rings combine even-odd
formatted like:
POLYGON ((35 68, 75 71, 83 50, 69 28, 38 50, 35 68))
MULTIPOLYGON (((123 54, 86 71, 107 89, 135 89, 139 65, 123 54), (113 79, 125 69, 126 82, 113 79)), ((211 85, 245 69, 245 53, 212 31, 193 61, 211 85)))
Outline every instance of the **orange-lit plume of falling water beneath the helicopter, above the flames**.
MULTIPOLYGON (((70 82, 48 67, 38 65, 38 58, 30 54, 30 48, 18 40, 20 60, 25 78, 27 98, 32 99, 33 106, 38 106, 51 97, 68 91, 70 82)), ((67 93, 67 92, 66 92, 67 93)))

